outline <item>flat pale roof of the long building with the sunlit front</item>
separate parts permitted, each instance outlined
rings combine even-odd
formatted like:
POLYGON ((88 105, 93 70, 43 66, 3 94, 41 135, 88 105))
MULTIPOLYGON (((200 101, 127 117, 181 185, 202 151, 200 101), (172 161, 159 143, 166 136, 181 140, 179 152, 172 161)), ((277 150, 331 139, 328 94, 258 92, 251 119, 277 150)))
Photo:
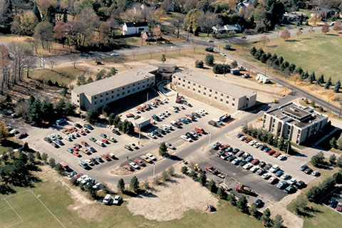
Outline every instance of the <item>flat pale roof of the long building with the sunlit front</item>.
POLYGON ((185 78, 201 86, 206 86, 207 88, 211 88, 212 90, 217 90, 218 92, 231 95, 232 97, 235 97, 235 98, 242 98, 244 96, 252 97, 252 95, 257 94, 253 92, 252 90, 248 90, 247 88, 242 88, 241 86, 228 83, 227 81, 223 81, 218 78, 207 76, 197 71, 190 71, 190 70, 180 71, 180 72, 175 73, 174 76, 185 78))

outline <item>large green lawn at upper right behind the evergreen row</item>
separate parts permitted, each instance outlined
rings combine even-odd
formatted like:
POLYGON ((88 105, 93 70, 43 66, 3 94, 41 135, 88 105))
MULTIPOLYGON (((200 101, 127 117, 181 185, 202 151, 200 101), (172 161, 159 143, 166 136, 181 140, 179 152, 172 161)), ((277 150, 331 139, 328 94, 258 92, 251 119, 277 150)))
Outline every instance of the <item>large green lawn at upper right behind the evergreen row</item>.
MULTIPOLYGON (((309 73, 315 71, 316 78, 322 73, 325 80, 331 76, 332 82, 336 83, 338 79, 342 79, 342 64, 338 61, 341 58, 339 50, 342 50, 342 38, 335 31, 324 35, 318 29, 316 28, 317 33, 291 36, 289 41, 274 38, 266 43, 266 46, 262 42, 257 42, 250 43, 250 47, 256 46, 256 48, 263 48, 266 52, 283 56, 285 61, 301 66, 309 73)), ((237 51, 234 54, 243 56, 237 51)), ((248 56, 250 56, 249 53, 248 56)))

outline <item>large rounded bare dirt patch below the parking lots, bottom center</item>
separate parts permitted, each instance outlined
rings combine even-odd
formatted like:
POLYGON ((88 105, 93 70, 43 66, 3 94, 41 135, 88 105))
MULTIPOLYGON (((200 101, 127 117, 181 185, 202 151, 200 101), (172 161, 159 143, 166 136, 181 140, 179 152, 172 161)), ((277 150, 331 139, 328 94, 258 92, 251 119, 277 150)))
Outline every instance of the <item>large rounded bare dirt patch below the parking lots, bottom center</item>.
MULTIPOLYGON (((175 170, 179 168, 175 167, 175 170)), ((183 175, 172 178, 165 186, 155 187, 154 191, 127 201, 127 207, 133 215, 139 214, 157 221, 181 219, 190 209, 204 211, 207 204, 218 206, 218 200, 205 187, 183 175)))

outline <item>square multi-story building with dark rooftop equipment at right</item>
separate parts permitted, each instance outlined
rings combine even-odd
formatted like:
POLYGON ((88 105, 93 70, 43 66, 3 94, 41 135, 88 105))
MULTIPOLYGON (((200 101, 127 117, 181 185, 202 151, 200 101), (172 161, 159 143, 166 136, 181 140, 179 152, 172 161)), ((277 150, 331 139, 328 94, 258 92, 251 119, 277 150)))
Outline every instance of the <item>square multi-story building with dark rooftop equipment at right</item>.
POLYGON ((264 113, 262 128, 296 144, 308 140, 328 123, 328 116, 312 107, 286 103, 264 113))

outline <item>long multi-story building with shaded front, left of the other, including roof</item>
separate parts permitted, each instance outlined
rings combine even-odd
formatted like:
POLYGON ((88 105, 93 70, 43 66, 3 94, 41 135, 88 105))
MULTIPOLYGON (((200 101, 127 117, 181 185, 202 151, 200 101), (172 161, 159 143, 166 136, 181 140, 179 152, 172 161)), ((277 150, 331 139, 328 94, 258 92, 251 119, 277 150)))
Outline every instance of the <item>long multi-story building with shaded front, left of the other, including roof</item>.
POLYGON ((71 102, 81 110, 101 108, 105 104, 154 86, 157 71, 157 66, 146 66, 78 86, 71 91, 71 102))

